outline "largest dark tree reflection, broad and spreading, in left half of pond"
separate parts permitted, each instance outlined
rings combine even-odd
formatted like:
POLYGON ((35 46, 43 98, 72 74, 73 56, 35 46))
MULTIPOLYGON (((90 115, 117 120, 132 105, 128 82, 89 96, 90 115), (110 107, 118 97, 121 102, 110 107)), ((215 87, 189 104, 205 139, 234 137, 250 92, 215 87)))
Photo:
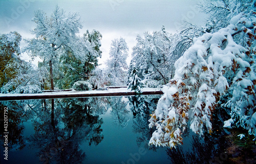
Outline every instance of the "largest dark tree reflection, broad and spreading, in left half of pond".
POLYGON ((103 140, 103 121, 94 115, 92 101, 95 100, 80 98, 42 103, 34 121, 35 134, 29 139, 39 148, 38 156, 42 162, 81 163, 86 155, 79 148, 80 143, 88 141, 89 145, 98 145, 103 140), (48 110, 49 106, 51 110, 48 110))

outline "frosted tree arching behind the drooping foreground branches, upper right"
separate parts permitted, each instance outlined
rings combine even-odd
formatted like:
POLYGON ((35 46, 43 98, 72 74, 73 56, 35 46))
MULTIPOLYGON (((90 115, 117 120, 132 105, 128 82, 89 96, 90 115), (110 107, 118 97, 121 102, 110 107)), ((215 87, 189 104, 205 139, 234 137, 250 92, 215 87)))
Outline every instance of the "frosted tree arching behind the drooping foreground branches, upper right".
MULTIPOLYGON (((206 25, 199 27, 190 22, 184 22, 184 28, 174 35, 174 43, 170 48, 170 66, 175 70, 174 63, 193 44, 194 37, 200 37, 205 33, 214 33, 225 28, 229 20, 240 12, 249 12, 255 8, 252 0, 205 0, 198 5, 201 12, 208 14, 206 25)), ((236 38, 233 38, 236 40, 236 38)))

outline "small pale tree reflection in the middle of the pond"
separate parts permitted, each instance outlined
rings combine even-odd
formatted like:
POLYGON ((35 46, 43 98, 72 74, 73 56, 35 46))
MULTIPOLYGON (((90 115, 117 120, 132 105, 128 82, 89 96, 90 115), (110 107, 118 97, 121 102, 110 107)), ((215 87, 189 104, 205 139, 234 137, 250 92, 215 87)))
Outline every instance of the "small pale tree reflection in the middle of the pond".
POLYGON ((111 97, 110 106, 113 124, 121 128, 126 127, 129 121, 129 111, 126 108, 127 102, 122 100, 122 97, 111 97))

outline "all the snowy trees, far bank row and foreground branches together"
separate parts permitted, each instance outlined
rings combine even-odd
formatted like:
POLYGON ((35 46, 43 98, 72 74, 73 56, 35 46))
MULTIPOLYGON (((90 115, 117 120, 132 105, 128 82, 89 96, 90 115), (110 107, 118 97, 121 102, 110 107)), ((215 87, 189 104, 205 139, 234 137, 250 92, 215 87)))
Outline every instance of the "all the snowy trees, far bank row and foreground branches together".
POLYGON ((208 14, 205 26, 187 22, 175 34, 162 26, 138 35, 130 65, 125 39, 113 39, 106 68, 98 67, 101 33, 78 37, 83 28, 78 13, 58 6, 51 14, 37 10, 34 37, 25 39, 25 47, 20 48, 18 32, 0 35, 1 93, 70 89, 77 81, 95 89, 127 85, 138 93, 162 86, 164 95, 149 120, 150 128, 156 127, 150 144, 175 147, 187 127, 211 133, 218 106, 230 113, 224 127, 256 136, 256 1, 207 0, 199 8, 208 14), (24 52, 42 60, 37 68, 20 59, 24 52))

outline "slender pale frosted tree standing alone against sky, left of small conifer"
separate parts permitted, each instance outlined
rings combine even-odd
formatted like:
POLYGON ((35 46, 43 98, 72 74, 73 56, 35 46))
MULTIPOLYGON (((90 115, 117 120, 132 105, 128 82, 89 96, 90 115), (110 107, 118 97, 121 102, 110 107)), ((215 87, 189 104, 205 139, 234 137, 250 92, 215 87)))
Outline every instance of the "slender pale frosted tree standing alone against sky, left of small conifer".
POLYGON ((128 67, 126 63, 128 50, 129 48, 122 37, 120 37, 120 39, 112 40, 109 53, 110 59, 106 61, 111 85, 116 86, 125 84, 126 69, 128 67))

